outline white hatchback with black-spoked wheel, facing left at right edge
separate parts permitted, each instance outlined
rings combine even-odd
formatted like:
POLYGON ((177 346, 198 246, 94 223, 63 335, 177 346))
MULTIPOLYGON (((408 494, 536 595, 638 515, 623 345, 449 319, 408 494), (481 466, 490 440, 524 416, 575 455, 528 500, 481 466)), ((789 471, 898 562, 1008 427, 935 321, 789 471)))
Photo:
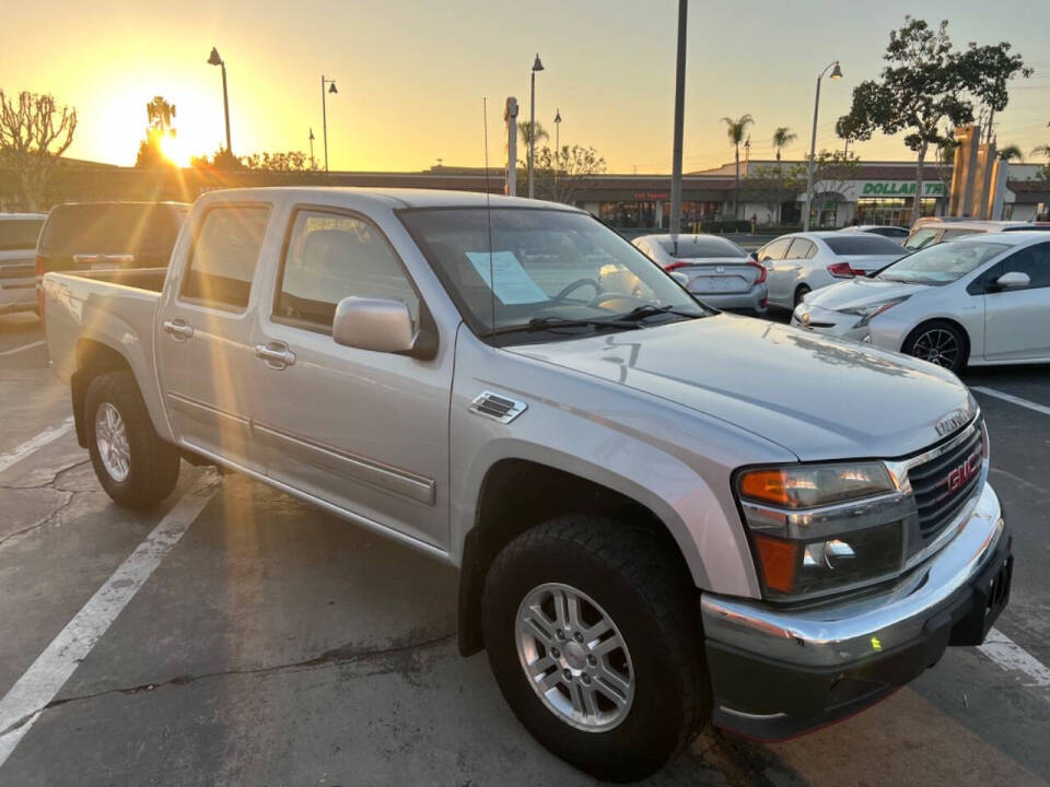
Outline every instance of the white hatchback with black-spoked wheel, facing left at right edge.
POLYGON ((792 325, 954 372, 1050 362, 1050 236, 970 235, 814 293, 792 325))

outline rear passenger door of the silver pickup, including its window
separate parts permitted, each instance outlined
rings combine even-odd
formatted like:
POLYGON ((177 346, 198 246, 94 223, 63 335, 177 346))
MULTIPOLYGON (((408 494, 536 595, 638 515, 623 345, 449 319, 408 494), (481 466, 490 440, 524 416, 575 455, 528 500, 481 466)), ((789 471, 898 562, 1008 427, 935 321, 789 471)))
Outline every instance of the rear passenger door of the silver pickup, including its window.
POLYGON ((253 439, 253 279, 270 205, 222 203, 194 227, 182 269, 165 285, 156 357, 176 437, 188 447, 265 471, 253 439))

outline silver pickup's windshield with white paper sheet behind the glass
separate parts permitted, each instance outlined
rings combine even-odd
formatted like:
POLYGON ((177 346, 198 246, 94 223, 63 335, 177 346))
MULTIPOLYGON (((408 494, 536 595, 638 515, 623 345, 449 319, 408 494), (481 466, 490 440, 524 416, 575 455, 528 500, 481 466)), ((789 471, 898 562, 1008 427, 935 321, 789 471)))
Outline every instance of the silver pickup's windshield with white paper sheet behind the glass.
POLYGON ((448 208, 399 215, 479 336, 529 342, 538 340, 537 331, 565 338, 709 314, 641 251, 584 213, 448 208))

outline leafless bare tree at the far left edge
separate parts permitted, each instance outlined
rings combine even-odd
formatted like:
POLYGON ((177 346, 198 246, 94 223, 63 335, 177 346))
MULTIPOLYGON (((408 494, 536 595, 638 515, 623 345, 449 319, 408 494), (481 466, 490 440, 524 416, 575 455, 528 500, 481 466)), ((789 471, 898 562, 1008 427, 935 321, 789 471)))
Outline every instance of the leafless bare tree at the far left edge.
POLYGON ((50 94, 0 90, 0 166, 19 177, 26 208, 44 207, 51 168, 73 141, 77 110, 59 107, 50 94))

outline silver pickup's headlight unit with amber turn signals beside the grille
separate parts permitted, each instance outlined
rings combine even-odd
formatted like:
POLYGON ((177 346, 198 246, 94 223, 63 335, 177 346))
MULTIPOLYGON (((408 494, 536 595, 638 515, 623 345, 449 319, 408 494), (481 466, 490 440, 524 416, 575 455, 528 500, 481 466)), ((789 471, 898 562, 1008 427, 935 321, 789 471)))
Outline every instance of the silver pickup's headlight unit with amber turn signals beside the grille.
POLYGON ((746 470, 736 492, 769 599, 814 598, 901 569, 907 504, 882 462, 746 470))

